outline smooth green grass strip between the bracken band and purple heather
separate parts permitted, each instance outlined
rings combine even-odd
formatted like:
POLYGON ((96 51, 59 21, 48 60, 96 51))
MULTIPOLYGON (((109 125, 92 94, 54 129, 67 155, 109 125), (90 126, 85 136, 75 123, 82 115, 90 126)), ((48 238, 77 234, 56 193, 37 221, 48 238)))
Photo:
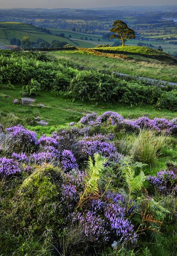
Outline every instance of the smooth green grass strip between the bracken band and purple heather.
POLYGON ((56 95, 51 92, 40 92, 40 95, 35 96, 35 102, 31 106, 14 104, 13 100, 17 98, 19 101, 22 97, 22 86, 15 86, 14 89, 1 87, 0 92, 0 116, 6 117, 9 114, 14 114, 16 118, 21 119, 34 119, 40 116, 42 120, 49 122, 49 126, 65 125, 69 122, 77 122, 81 116, 97 112, 99 114, 112 110, 118 112, 124 118, 136 119, 139 116, 149 115, 149 118, 156 116, 162 118, 172 119, 176 117, 175 112, 167 109, 161 111, 155 109, 153 106, 124 106, 123 104, 100 103, 90 104, 83 101, 72 101, 64 97, 63 94, 56 95), (43 103, 47 107, 40 107, 37 104, 43 103))

